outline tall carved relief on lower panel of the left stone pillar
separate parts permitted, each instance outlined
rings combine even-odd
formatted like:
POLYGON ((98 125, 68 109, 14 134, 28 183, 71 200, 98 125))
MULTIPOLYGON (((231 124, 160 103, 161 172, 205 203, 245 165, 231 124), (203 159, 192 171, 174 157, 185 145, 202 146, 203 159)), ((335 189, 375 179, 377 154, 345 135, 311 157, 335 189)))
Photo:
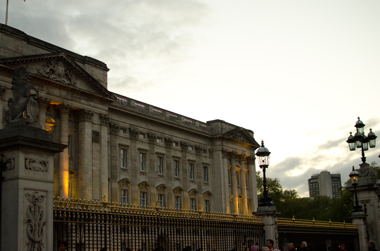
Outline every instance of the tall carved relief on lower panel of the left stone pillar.
POLYGON ((29 251, 42 250, 44 247, 42 239, 45 234, 44 227, 46 225, 46 221, 41 204, 43 203, 46 195, 43 192, 35 191, 32 194, 27 192, 25 196, 30 203, 27 209, 27 217, 24 221, 27 225, 27 236, 29 239, 26 242, 26 246, 29 251))

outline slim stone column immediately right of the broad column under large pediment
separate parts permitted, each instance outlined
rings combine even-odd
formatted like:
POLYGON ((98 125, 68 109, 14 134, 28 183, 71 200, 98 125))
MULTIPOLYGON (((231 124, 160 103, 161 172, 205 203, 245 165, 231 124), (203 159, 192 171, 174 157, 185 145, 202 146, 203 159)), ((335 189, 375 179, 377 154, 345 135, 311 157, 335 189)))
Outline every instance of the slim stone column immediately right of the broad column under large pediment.
POLYGON ((100 197, 108 202, 108 122, 107 114, 100 114, 100 197))

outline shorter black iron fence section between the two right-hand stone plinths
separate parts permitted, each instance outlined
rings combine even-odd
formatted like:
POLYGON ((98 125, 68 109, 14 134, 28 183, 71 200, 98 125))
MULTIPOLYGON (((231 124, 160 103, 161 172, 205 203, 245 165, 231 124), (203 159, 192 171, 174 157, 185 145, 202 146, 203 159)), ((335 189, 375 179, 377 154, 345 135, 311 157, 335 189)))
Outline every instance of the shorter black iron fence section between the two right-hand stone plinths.
POLYGON ((301 250, 305 241, 310 251, 340 250, 344 244, 347 250, 360 250, 357 226, 331 221, 278 219, 278 245, 288 251, 288 244, 294 243, 301 250))

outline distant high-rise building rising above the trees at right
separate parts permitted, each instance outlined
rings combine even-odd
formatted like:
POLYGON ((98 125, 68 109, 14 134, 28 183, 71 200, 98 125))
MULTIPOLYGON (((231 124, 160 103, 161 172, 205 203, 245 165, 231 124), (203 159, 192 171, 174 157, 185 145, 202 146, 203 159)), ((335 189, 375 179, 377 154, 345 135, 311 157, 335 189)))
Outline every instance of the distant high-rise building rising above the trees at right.
POLYGON ((339 188, 342 186, 340 174, 330 174, 330 172, 322 171, 320 174, 312 175, 308 183, 310 198, 316 196, 340 198, 339 188))

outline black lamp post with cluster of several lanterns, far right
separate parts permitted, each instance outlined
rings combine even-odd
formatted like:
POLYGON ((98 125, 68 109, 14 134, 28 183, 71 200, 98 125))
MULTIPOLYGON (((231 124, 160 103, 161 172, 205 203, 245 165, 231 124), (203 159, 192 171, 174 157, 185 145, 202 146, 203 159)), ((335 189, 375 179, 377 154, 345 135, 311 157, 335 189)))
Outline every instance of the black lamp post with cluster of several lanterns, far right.
MULTIPOLYGON (((368 136, 364 134, 364 126, 363 122, 358 117, 358 121, 355 124, 356 133, 352 136, 352 132, 347 139, 348 147, 350 151, 355 151, 356 148, 362 149, 362 162, 366 162, 366 157, 364 156, 364 151, 368 151, 368 145, 370 148, 374 148, 376 146, 376 135, 372 132, 372 129, 369 129, 368 136)), ((380 156, 379 156, 380 157, 380 156)))

